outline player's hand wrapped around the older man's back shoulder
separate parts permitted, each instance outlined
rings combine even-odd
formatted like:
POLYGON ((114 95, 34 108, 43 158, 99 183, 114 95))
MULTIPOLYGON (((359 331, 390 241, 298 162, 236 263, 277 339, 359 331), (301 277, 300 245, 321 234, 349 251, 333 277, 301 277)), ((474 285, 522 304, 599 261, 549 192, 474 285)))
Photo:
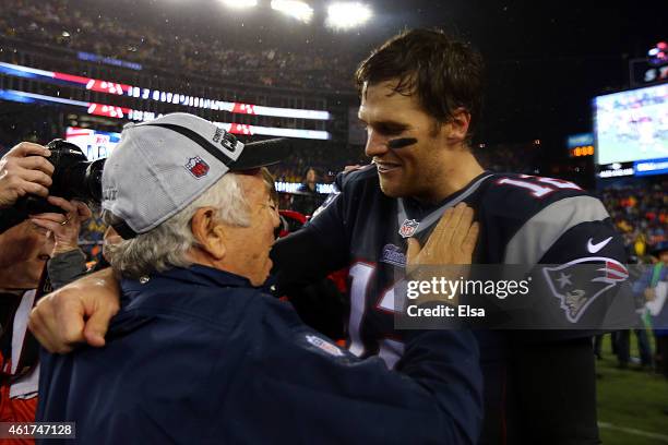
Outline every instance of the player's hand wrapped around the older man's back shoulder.
POLYGON ((84 342, 103 347, 109 321, 119 309, 120 289, 109 267, 40 299, 28 327, 50 352, 67 353, 84 342))

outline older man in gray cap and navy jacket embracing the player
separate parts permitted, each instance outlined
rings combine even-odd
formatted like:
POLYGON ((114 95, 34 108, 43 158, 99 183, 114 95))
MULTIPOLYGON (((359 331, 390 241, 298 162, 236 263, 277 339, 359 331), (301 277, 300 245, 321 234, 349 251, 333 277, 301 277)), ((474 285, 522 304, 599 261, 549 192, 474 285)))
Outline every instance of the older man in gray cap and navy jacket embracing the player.
MULTIPOLYGON (((409 333, 390 371, 259 288, 278 215, 258 167, 272 160, 190 115, 123 131, 103 176, 121 310, 105 348, 44 359, 38 418, 75 421, 82 443, 475 443, 470 333, 409 333)), ((477 226, 455 212, 441 229, 465 228, 452 261, 469 262, 477 226)))

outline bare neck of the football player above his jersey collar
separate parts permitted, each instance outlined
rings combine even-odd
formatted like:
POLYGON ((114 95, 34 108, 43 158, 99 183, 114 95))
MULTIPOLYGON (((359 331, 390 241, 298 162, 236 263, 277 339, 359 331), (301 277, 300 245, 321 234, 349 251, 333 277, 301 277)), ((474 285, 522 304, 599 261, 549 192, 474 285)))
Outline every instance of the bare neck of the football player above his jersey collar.
POLYGON ((451 161, 443 167, 442 175, 434 181, 428 194, 414 197, 425 204, 439 203, 464 189, 484 171, 473 153, 464 152, 457 156, 456 163, 451 161))

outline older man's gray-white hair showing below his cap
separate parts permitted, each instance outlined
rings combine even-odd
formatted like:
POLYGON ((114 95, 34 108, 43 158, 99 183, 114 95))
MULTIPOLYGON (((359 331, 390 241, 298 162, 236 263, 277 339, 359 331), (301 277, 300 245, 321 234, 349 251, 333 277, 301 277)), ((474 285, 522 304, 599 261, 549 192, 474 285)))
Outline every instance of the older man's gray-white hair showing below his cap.
MULTIPOLYGON (((134 279, 171 267, 189 267, 192 262, 188 258, 188 252, 198 245, 190 221, 199 208, 207 206, 215 207, 216 216, 225 224, 238 227, 250 225, 250 206, 243 195, 239 177, 236 173, 227 173, 155 229, 108 245, 107 255, 111 267, 123 277, 134 279)), ((104 218, 110 225, 120 221, 110 212, 105 212, 104 218)))

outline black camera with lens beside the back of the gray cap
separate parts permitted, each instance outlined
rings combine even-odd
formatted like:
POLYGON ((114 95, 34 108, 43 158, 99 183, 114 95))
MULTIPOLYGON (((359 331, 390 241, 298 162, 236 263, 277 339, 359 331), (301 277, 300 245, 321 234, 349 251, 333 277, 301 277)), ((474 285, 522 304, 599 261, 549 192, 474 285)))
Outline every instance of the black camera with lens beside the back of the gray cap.
MULTIPOLYGON (((88 161, 76 145, 57 139, 47 144, 53 165, 49 195, 99 204, 102 201, 102 175, 106 159, 88 161)), ((63 213, 40 196, 27 195, 14 204, 14 208, 27 215, 39 213, 63 213)))

